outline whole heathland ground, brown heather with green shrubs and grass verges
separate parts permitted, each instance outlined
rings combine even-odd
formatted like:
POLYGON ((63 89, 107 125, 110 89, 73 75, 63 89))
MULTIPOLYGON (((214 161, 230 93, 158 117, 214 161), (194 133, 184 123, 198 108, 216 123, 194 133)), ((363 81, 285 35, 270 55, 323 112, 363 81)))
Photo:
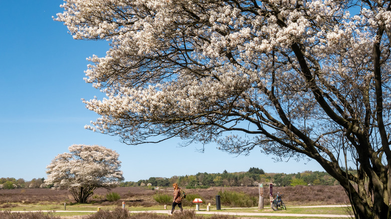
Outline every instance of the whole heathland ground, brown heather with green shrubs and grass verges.
MULTIPOLYGON (((195 197, 202 198, 202 208, 206 208, 208 203, 211 203, 212 208, 216 209, 216 195, 221 195, 222 208, 230 207, 245 207, 240 209, 251 210, 252 212, 258 211, 259 188, 258 186, 235 186, 235 187, 209 187, 209 188, 190 188, 186 189, 187 197, 182 201, 184 209, 193 210, 195 207, 192 203, 192 199, 195 197), (249 207, 255 207, 249 208, 249 207)), ((283 200, 287 205, 287 213, 332 213, 332 214, 345 214, 347 209, 339 208, 292 208, 293 206, 310 206, 310 205, 333 205, 340 204, 345 205, 348 203, 348 197, 339 185, 314 185, 314 186, 274 186, 273 193, 283 193, 283 200)), ((269 189, 264 189, 265 211, 273 212, 269 206, 269 189)), ((107 210, 114 210, 114 213, 118 214, 121 211, 115 210, 125 205, 127 210, 162 210, 164 204, 167 208, 170 207, 172 201, 172 189, 166 188, 148 188, 147 186, 132 186, 132 187, 117 187, 110 191, 100 188, 97 189, 87 204, 74 203, 72 196, 66 190, 55 190, 51 188, 16 188, 16 189, 1 189, 0 190, 0 210, 68 210, 68 211, 96 211, 101 209, 102 213, 109 213, 107 210), (109 200, 108 194, 117 194, 119 199, 109 200), (107 211, 107 212, 106 212, 107 211)), ((5 214, 5 212, 3 212, 5 214)), ((30 213, 31 214, 31 213, 30 213)), ((89 213, 54 213, 53 217, 48 218, 73 218, 70 216, 89 214, 89 213)), ((91 214, 91 213, 90 213, 91 214)), ((98 213, 99 214, 99 213, 98 213)), ((109 213, 113 214, 113 212, 109 213)), ((127 214, 127 213, 126 213, 127 214)), ((10 214, 8 214, 10 215, 10 214)), ((88 218, 93 217, 95 214, 89 215, 88 218)), ((14 215, 15 216, 15 215, 14 215)), ((36 216, 40 218, 42 214, 36 216)), ((100 215, 102 216, 102 215, 100 215)), ((118 215, 103 215, 103 217, 96 218, 120 218, 118 215)), ((204 218, 203 216, 195 216, 195 214, 182 215, 182 218, 204 218), (191 216, 191 217, 190 217, 191 216)), ((25 217, 7 217, 2 215, 3 218, 25 218, 25 217)), ((29 215, 27 218, 34 218, 33 215, 29 215)), ((123 216, 121 218, 161 218, 161 215, 153 214, 138 215, 138 217, 123 216)), ((176 218, 176 217, 174 217, 176 218)), ((180 217, 178 217, 180 218, 180 217)), ((228 216, 218 216, 215 218, 233 218, 228 216)), ((273 217, 262 217, 273 218, 273 217)), ((295 218, 295 217, 290 217, 295 218)))

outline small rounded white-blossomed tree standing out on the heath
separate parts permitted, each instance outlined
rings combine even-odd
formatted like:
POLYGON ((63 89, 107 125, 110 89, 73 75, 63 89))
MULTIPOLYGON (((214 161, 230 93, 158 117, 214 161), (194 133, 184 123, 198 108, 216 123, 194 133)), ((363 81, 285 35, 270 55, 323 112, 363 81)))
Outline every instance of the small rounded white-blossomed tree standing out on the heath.
POLYGON ((45 184, 68 189, 77 202, 85 203, 96 188, 110 189, 124 179, 118 156, 104 146, 74 144, 46 167, 45 184))

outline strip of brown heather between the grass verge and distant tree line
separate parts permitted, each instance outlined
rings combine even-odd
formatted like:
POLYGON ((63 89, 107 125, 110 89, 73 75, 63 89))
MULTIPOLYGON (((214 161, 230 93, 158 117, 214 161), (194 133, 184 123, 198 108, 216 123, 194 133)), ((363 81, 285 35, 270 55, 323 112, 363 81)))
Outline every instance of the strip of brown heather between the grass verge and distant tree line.
MULTIPOLYGON (((240 207, 239 203, 230 203, 225 201, 224 195, 230 192, 243 194, 243 197, 255 199, 253 206, 258 206, 259 189, 258 186, 236 186, 236 187, 209 187, 209 188, 191 188, 186 189, 187 197, 183 200, 184 206, 194 206, 191 202, 193 197, 200 197, 203 203, 216 204, 216 195, 221 195, 222 205, 226 207, 240 207)), ((299 205, 325 205, 325 204, 346 204, 348 197, 340 185, 314 185, 314 186, 274 186, 273 193, 283 193, 283 200, 289 206, 299 205)), ((172 189, 167 188, 148 188, 141 186, 117 187, 110 191, 99 188, 94 192, 90 199, 90 206, 94 209, 96 206, 117 205, 121 206, 124 201, 128 207, 152 207, 160 204, 155 200, 158 196, 167 194, 172 196, 172 189), (120 198, 115 201, 108 201, 107 194, 118 193, 120 198)), ((264 188, 264 197, 269 197, 269 189, 264 188)), ((228 198, 227 198, 228 199, 228 198)), ((57 210, 64 208, 64 203, 74 206, 72 195, 67 190, 56 190, 51 188, 16 188, 0 190, 0 208, 24 208, 27 204, 58 204, 57 210), (8 203, 8 204, 7 204, 8 203)), ((265 201, 265 205, 268 203, 265 201)), ((250 206, 249 206, 250 207, 250 206)), ((27 209, 27 208, 26 208, 27 209)), ((53 209, 56 210, 56 209, 53 209)))

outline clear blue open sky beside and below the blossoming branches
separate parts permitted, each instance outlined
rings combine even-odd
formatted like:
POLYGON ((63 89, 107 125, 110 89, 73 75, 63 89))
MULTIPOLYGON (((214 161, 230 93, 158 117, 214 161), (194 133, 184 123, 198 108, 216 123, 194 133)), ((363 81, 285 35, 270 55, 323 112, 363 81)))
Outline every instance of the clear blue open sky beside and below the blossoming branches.
POLYGON ((319 164, 274 162, 255 148, 249 156, 235 156, 207 145, 179 147, 175 140, 128 146, 118 137, 84 129, 98 115, 81 98, 99 91, 83 80, 93 54, 103 56, 106 41, 74 40, 52 16, 62 0, 2 0, 0 7, 0 177, 31 180, 47 177, 46 166, 72 144, 99 144, 116 150, 126 181, 173 175, 247 171, 296 173, 323 171, 319 164), (173 165, 173 153, 186 155, 173 165))

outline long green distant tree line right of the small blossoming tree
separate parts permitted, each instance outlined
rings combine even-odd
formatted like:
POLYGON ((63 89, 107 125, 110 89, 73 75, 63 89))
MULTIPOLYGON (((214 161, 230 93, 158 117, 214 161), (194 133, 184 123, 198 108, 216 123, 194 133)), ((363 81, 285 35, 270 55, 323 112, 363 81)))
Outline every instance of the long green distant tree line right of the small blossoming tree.
MULTIPOLYGON (((349 167, 349 172, 354 170, 349 167)), ((251 167, 246 172, 230 173, 224 170, 223 173, 199 172, 195 175, 150 177, 137 182, 125 181, 120 186, 171 186, 178 183, 186 188, 202 188, 210 186, 257 186, 258 183, 273 183, 275 186, 294 185, 334 185, 337 181, 323 171, 304 171, 297 173, 265 173, 263 169, 251 167)))

